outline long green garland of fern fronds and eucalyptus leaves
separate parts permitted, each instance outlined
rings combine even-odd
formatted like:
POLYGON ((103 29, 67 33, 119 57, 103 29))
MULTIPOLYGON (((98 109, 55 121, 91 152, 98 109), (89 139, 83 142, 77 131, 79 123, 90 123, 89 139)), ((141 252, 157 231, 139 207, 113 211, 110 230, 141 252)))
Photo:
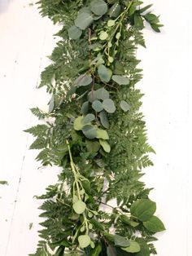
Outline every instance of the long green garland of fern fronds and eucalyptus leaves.
POLYGON ((61 167, 59 181, 38 196, 41 241, 35 254, 148 256, 164 224, 140 180, 152 166, 135 84, 137 46, 159 17, 138 0, 40 0, 41 15, 63 24, 41 73, 49 112, 32 108, 42 124, 26 130, 41 149, 37 161, 61 167), (113 204, 111 204, 113 200, 113 204), (115 205, 114 205, 115 202, 115 205))

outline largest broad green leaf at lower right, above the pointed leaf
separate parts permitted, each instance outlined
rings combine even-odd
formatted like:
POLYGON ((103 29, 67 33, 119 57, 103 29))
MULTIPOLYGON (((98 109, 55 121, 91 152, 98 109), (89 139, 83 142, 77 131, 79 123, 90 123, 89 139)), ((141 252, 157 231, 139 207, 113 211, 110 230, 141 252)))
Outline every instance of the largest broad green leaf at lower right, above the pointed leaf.
POLYGON ((139 199, 131 205, 130 212, 141 221, 149 220, 155 214, 156 204, 149 199, 139 199))

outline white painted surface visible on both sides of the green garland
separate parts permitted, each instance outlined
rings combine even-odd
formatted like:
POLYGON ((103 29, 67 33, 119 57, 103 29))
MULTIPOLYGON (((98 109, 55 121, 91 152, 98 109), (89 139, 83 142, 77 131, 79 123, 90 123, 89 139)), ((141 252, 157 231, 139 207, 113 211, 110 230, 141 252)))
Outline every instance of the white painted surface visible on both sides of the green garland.
MULTIPOLYGON (((58 30, 38 14, 28 0, 0 0, 0 255, 26 256, 38 241, 40 205, 33 196, 55 183, 58 168, 38 169, 37 152, 28 151, 33 139, 23 132, 37 120, 28 108, 45 109, 48 95, 36 90, 40 73, 49 64, 58 30), (29 223, 33 227, 29 229, 29 223)), ((167 231, 156 242, 159 256, 192 255, 191 58, 190 0, 156 0, 156 14, 165 24, 163 33, 146 29, 146 49, 137 52, 144 77, 149 142, 157 154, 155 166, 146 170, 151 199, 167 231)))

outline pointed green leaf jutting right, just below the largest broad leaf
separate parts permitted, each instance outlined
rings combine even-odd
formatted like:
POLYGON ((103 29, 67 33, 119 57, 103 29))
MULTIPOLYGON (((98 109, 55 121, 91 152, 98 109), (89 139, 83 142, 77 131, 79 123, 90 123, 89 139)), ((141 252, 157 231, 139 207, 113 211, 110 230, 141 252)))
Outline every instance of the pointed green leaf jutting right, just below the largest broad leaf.
POLYGON ((143 226, 146 227, 147 230, 154 233, 165 230, 164 223, 162 223, 162 221, 156 216, 152 216, 146 222, 143 222, 143 226))

